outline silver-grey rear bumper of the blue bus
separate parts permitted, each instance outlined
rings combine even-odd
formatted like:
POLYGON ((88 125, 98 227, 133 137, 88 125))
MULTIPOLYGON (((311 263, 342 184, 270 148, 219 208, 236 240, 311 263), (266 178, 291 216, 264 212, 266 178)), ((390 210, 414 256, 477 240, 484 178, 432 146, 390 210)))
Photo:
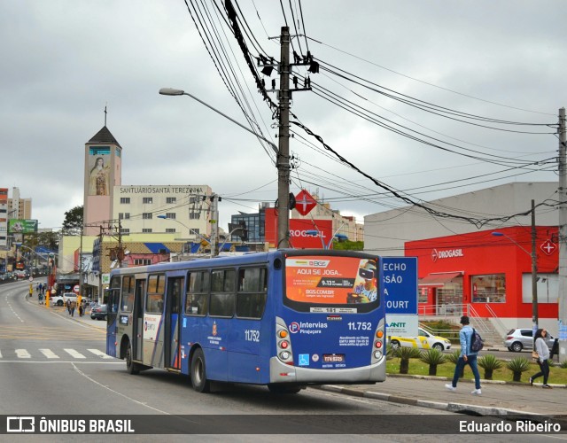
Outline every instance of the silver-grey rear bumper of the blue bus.
POLYGON ((270 383, 296 383, 306 385, 338 383, 341 385, 356 385, 358 383, 383 382, 385 378, 385 356, 369 366, 350 369, 302 368, 285 364, 277 357, 272 357, 269 361, 270 383))

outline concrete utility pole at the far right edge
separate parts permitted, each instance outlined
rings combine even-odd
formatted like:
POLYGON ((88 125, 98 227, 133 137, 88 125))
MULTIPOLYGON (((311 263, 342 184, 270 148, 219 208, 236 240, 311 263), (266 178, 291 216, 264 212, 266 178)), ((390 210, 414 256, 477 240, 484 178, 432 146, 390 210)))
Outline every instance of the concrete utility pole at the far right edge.
POLYGON ((567 167, 565 108, 559 110, 559 361, 567 361, 567 167))

